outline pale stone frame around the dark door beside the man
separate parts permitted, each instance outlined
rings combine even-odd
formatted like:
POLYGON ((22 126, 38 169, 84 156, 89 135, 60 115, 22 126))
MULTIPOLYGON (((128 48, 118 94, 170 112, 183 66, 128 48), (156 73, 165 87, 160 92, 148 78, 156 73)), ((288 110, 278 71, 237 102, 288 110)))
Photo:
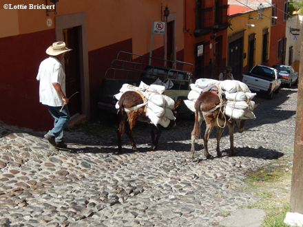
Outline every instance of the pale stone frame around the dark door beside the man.
MULTIPOLYGON (((63 29, 79 27, 79 62, 81 83, 81 109, 86 119, 90 119, 90 76, 88 71, 87 20, 86 12, 54 17, 56 41, 62 41, 63 29)), ((63 64, 64 67, 64 64, 63 64)))

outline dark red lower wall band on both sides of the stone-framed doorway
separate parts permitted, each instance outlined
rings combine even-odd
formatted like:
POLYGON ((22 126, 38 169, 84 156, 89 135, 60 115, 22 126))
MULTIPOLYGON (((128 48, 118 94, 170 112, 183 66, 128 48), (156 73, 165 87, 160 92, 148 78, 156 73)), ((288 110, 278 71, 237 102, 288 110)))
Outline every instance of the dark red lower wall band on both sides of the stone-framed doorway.
MULTIPOLYGON (((36 80, 36 74, 41 61, 48 58, 45 50, 54 41, 54 30, 0 39, 1 52, 4 53, 0 56, 0 121, 35 131, 48 131, 52 128, 54 120, 48 109, 39 102, 39 82, 36 80)), ((119 51, 132 52, 132 39, 88 53, 92 117, 97 110, 98 89, 106 70, 119 51)), ((183 52, 184 50, 177 53, 177 59, 180 61, 184 57, 183 52)), ((153 51, 153 57, 162 58, 163 53, 164 47, 160 47, 153 51)), ((149 53, 146 55, 149 56, 149 53)))

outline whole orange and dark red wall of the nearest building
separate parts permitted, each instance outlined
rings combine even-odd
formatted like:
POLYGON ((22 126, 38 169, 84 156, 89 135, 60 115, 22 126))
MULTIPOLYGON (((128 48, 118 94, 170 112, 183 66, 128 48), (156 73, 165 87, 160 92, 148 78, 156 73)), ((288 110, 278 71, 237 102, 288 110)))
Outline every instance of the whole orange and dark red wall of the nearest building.
MULTIPOLYGON (((0 0, 1 6, 7 1, 0 0)), ((12 2, 12 1, 11 1, 12 2)), ((5 111, 0 111, 0 121, 9 125, 47 130, 52 118, 39 103, 39 83, 36 81, 40 62, 47 57, 45 50, 56 41, 54 17, 86 12, 87 48, 90 76, 90 100, 96 107, 96 94, 111 61, 118 51, 149 55, 152 21, 161 21, 169 7, 176 14, 177 60, 182 60, 184 49, 183 0, 60 0, 56 3, 58 14, 46 10, 30 10, 30 4, 39 6, 45 0, 15 0, 12 7, 28 9, 0 10, 0 97, 5 111), (46 20, 52 19, 48 28, 46 20), (6 98, 4 98, 6 97, 6 98)), ((164 36, 154 35, 153 56, 163 57, 164 36)))

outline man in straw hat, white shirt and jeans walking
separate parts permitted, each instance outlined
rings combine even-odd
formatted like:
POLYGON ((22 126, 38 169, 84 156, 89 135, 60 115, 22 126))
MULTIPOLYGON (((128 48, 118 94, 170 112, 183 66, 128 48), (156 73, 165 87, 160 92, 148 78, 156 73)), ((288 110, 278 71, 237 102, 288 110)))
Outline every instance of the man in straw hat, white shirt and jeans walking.
POLYGON ((40 81, 40 102, 46 105, 54 118, 54 128, 48 131, 44 138, 54 147, 61 148, 67 147, 63 142, 63 129, 70 120, 70 111, 67 108, 69 100, 65 93, 65 73, 61 61, 65 53, 71 50, 65 47, 64 42, 53 43, 46 50, 46 54, 50 57, 41 62, 36 76, 36 79, 40 81))

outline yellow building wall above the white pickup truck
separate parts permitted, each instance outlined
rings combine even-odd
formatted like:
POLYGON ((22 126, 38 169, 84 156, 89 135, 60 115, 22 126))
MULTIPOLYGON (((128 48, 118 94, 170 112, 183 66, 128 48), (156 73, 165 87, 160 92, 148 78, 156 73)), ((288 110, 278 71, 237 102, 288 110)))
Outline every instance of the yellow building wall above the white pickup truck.
MULTIPOLYGON (((249 35, 255 34, 255 65, 262 64, 262 31, 266 28, 269 30, 269 45, 270 43, 270 35, 271 35, 271 8, 264 9, 263 19, 249 19, 250 18, 258 18, 257 11, 249 11, 239 14, 238 16, 231 17, 229 19, 229 23, 231 26, 227 29, 227 39, 229 36, 236 34, 237 32, 241 32, 244 30, 244 43, 243 49, 244 53, 248 54, 248 43, 249 43, 249 35), (246 24, 254 24, 255 27, 247 26, 246 24), (232 30, 231 30, 232 29, 232 30)), ((269 50, 267 50, 269 52, 269 50)), ((243 67, 247 66, 247 57, 243 59, 243 67)))

